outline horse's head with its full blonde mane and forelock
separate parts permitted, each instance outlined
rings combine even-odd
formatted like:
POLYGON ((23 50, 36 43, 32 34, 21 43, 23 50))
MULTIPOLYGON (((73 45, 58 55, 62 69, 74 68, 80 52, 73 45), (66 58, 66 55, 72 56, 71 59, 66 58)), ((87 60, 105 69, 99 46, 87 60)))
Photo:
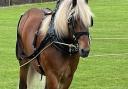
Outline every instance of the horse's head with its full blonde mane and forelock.
POLYGON ((90 51, 89 26, 92 13, 85 0, 64 0, 56 13, 55 28, 61 37, 72 37, 81 57, 90 51))

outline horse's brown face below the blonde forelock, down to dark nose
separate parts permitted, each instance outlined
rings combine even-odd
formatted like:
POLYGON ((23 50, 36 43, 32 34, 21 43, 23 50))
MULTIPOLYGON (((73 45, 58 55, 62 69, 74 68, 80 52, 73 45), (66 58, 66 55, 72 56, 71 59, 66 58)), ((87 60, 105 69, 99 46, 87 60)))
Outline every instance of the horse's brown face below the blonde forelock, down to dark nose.
POLYGON ((79 17, 76 19, 76 37, 79 44, 79 54, 81 57, 87 57, 90 52, 89 30, 84 26, 79 17))

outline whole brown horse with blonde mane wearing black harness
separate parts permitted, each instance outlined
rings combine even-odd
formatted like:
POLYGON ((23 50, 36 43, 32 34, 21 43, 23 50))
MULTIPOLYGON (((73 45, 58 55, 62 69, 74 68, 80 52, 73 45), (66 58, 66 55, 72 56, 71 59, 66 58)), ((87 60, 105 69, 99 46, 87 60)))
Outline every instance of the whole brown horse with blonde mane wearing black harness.
POLYGON ((45 89, 68 89, 80 57, 90 52, 92 16, 85 0, 59 0, 54 11, 26 11, 17 26, 19 89, 29 89, 35 71, 46 76, 45 89))

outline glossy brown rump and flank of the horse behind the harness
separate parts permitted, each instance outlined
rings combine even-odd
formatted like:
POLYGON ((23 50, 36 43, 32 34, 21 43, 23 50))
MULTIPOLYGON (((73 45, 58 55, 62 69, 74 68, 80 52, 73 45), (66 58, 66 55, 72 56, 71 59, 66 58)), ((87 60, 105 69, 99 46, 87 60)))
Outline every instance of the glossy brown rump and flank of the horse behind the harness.
POLYGON ((33 50, 33 41, 35 33, 39 30, 44 13, 40 9, 30 9, 22 17, 18 26, 18 34, 22 40, 22 47, 27 55, 33 50))

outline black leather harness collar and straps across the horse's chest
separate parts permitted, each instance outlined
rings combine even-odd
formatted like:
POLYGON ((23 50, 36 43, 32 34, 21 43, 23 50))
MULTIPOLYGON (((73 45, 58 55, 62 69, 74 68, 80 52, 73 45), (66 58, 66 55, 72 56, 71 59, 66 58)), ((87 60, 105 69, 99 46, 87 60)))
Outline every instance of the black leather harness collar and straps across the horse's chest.
MULTIPOLYGON (((75 33, 75 31, 73 30, 74 29, 74 24, 70 24, 71 22, 69 22, 69 29, 70 29, 70 32, 72 32, 72 34, 74 34, 74 39, 72 42, 72 44, 68 44, 65 42, 65 40, 63 40, 62 38, 59 38, 55 32, 55 29, 54 29, 54 24, 53 24, 53 19, 54 17, 52 17, 52 20, 50 22, 50 26, 49 26, 49 29, 48 29, 48 32, 45 36, 45 38, 43 39, 43 41, 40 43, 40 46, 38 48, 36 48, 36 50, 34 51, 33 54, 31 54, 30 56, 26 57, 28 59, 32 59, 33 57, 35 57, 47 44, 50 44, 52 43, 51 45, 53 45, 55 48, 57 48, 59 51, 61 51, 62 53, 66 54, 66 55, 72 55, 74 53, 77 53, 78 52, 78 42, 77 42, 77 38, 80 36, 80 35, 83 35, 83 34, 89 34, 88 32, 85 32, 85 33, 75 33)), ((36 34, 38 36, 38 33, 36 34)), ((37 37, 35 36, 35 37, 37 37)), ((36 39, 36 38, 35 38, 36 39)), ((36 41, 34 41, 36 42, 36 41)), ((33 43, 35 44, 35 43, 33 43)))

